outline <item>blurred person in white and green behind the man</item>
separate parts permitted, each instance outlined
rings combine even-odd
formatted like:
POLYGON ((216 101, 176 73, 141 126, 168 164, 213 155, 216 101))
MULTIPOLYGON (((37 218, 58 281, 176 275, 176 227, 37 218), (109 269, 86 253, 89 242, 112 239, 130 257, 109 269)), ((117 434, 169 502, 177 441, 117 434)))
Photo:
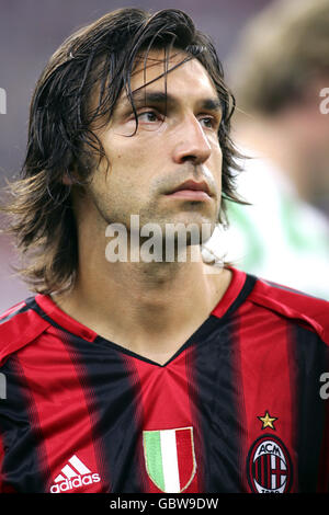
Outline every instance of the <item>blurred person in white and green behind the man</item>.
POLYGON ((328 299, 329 225, 316 204, 329 207, 329 1, 271 3, 228 70, 247 156, 238 191, 251 206, 230 203, 230 227, 212 243, 225 237, 236 266, 328 299))

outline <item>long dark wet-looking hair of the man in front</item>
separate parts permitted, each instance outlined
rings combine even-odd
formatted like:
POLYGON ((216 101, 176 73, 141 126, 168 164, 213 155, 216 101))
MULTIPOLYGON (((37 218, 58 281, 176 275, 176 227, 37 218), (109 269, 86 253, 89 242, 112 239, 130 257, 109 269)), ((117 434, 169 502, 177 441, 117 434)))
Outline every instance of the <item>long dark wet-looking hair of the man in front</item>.
POLYGON ((133 103, 129 81, 139 55, 172 47, 200 60, 222 101, 223 203, 218 221, 226 220, 227 199, 243 203, 235 192, 238 153, 229 137, 235 100, 224 83, 211 39, 180 10, 152 14, 121 9, 107 13, 77 31, 55 52, 31 101, 26 156, 20 179, 8 187, 11 202, 3 210, 11 215, 9 232, 15 236, 22 256, 29 259, 18 271, 33 290, 50 294, 73 284, 78 238, 71 186, 64 178, 82 185, 91 178, 95 157, 99 162, 106 159, 91 127, 98 121, 109 122, 123 90, 133 103), (92 106, 95 91, 98 102, 92 106), (78 171, 78 180, 73 171, 78 171))

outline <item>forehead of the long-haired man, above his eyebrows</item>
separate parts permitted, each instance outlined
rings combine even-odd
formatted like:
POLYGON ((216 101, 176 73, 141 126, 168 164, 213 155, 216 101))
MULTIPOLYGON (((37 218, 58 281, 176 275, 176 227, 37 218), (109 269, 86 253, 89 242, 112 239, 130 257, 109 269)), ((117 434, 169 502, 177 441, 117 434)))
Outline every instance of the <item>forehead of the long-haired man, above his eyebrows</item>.
POLYGON ((133 93, 141 89, 160 89, 190 98, 218 96, 204 66, 196 58, 191 59, 184 52, 174 49, 168 56, 167 62, 163 49, 151 50, 147 58, 138 56, 132 73, 131 88, 133 93), (189 60, 184 62, 186 58, 189 60))

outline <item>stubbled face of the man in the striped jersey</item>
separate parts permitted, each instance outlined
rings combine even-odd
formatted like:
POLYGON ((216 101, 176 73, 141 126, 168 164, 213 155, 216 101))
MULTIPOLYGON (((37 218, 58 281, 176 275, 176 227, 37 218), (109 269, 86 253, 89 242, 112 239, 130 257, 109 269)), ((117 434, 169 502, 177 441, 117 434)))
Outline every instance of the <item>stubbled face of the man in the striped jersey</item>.
MULTIPOLYGON (((129 228, 131 215, 139 215, 140 227, 147 222, 161 228, 164 224, 201 227, 217 222, 222 190, 217 92, 196 59, 170 71, 166 88, 166 79, 160 77, 163 56, 163 50, 150 52, 146 70, 141 59, 132 76, 137 131, 125 92, 110 124, 97 131, 110 169, 106 173, 102 162, 95 170, 87 202, 104 226, 121 222, 129 228), (191 183, 183 185, 186 181, 191 183)), ((171 54, 169 69, 184 57, 171 54)))

